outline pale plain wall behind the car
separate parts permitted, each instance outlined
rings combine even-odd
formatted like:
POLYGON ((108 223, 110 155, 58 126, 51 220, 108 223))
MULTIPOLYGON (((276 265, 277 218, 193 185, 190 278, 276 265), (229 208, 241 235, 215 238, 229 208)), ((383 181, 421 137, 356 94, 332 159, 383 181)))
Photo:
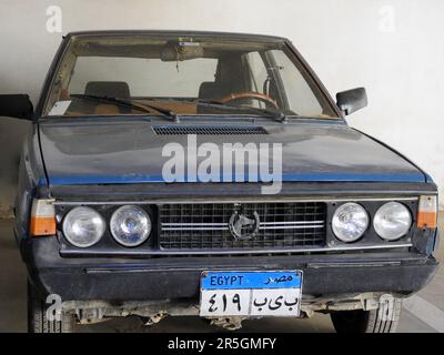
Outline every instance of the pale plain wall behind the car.
MULTIPOLYGON (((0 0, 0 92, 27 92, 36 102, 61 36, 74 30, 283 36, 333 94, 366 87, 370 106, 350 124, 398 149, 442 187, 443 13, 442 0, 0 0)), ((0 122, 0 213, 11 205, 26 124, 0 122)))

